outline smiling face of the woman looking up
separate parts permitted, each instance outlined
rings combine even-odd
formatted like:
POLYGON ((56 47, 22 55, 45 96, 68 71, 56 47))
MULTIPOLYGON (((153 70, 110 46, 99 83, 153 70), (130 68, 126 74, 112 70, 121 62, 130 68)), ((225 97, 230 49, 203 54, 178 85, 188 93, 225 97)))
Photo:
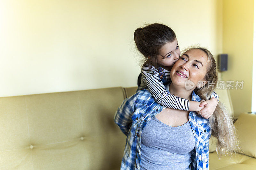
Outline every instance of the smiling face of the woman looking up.
MULTIPOLYGON (((172 83, 185 87, 185 84, 188 84, 188 82, 193 82, 193 90, 196 88, 196 86, 203 86, 205 83, 201 85, 198 85, 198 83, 200 84, 201 82, 205 81, 204 77, 206 75, 208 66, 207 60, 208 56, 204 53, 204 51, 200 49, 188 50, 182 56, 180 56, 172 67, 172 83)), ((192 87, 190 89, 192 89, 192 87)))

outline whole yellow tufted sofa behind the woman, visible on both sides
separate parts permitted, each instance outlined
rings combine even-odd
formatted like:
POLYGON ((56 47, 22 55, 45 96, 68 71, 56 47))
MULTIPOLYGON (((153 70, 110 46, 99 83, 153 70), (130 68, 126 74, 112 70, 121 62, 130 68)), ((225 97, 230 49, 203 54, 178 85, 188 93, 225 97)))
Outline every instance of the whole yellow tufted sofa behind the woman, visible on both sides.
MULTIPOLYGON (((114 87, 0 98, 0 169, 120 169, 126 137, 113 116, 135 91, 114 87)), ((233 113, 228 92, 216 92, 233 113)), ((256 115, 240 115, 235 125, 244 152, 220 160, 210 153, 210 169, 256 169, 255 123, 256 115)))

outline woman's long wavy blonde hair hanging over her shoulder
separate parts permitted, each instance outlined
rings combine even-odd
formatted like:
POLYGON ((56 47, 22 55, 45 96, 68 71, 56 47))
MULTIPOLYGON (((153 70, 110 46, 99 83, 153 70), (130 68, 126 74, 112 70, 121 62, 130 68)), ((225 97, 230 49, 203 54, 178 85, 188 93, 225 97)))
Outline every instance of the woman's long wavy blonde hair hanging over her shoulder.
MULTIPOLYGON (((205 75, 205 80, 207 83, 201 88, 196 88, 194 91, 202 99, 209 100, 212 91, 216 88, 218 81, 215 59, 209 50, 200 46, 188 47, 183 51, 187 52, 190 49, 200 49, 208 56, 208 67, 205 75), (210 87, 209 83, 211 83, 210 87)), ((219 101, 215 111, 209 118, 209 122, 212 127, 212 136, 218 139, 216 152, 219 157, 221 157, 221 155, 236 151, 238 146, 233 120, 232 115, 228 112, 225 105, 219 101)))

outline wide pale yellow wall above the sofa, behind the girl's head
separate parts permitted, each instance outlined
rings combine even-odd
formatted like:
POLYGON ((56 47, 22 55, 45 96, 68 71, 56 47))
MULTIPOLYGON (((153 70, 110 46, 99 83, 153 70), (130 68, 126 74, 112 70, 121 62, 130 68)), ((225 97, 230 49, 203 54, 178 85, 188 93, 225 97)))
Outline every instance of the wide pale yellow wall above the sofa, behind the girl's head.
POLYGON ((172 27, 181 48, 197 43, 217 55, 218 1, 0 1, 0 96, 135 86, 140 55, 133 33, 144 23, 172 27))

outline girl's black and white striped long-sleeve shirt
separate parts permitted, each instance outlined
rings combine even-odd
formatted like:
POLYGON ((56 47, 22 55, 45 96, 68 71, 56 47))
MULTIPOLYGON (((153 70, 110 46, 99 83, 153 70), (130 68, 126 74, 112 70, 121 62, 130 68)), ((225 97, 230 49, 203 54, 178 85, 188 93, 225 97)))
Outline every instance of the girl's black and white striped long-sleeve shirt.
MULTIPOLYGON (((170 71, 160 68, 160 72, 152 65, 143 65, 141 68, 141 83, 139 89, 148 88, 156 102, 164 107, 179 110, 189 110, 189 101, 168 93, 164 88, 164 81, 170 82, 170 71), (162 76, 162 77, 161 77, 162 76), (161 78, 162 79, 161 79, 161 78)), ((212 97, 220 100, 216 92, 212 92, 212 97)))

